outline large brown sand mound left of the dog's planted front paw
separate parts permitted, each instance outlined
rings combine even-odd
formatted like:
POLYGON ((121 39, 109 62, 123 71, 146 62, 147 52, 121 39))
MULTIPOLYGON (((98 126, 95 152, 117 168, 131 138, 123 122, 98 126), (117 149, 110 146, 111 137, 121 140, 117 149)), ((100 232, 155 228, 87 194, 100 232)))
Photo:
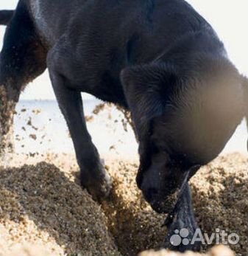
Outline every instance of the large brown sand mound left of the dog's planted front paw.
POLYGON ((46 245, 50 253, 119 255, 101 208, 54 165, 1 170, 1 247, 46 245))

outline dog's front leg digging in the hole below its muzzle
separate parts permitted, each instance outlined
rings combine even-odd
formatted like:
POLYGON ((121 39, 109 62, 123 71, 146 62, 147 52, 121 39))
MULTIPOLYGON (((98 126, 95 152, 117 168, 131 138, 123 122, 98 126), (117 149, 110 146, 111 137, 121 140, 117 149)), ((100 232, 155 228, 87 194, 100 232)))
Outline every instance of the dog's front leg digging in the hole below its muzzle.
MULTIPOLYGON (((186 184, 174 211, 168 215, 165 225, 168 228, 165 247, 174 251, 199 251, 200 243, 192 243, 197 224, 191 202, 191 190, 186 184)), ((193 241, 194 242, 194 241, 193 241)))

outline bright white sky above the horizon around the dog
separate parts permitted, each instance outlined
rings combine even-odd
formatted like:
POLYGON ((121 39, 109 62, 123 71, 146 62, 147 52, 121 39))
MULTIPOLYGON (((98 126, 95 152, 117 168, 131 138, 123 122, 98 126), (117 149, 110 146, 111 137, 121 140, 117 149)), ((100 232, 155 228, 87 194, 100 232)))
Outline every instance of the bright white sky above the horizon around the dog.
MULTIPOLYGON (((17 2, 1 0, 0 9, 14 9, 17 2)), ((188 2, 213 26, 224 42, 230 59, 242 74, 248 76, 248 1, 188 0, 188 2)), ((0 47, 3 35, 4 27, 0 26, 0 47)), ((21 99, 54 99, 48 73, 45 72, 30 83, 21 99)))

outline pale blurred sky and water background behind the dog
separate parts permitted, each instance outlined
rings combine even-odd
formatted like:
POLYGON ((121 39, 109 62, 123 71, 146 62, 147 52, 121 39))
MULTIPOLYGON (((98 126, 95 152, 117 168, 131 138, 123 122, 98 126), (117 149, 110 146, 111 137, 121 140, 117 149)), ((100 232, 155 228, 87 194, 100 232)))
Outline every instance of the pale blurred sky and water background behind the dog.
MULTIPOLYGON (((238 70, 248 76, 248 1, 188 0, 202 14, 224 42, 230 59, 238 70)), ((17 0, 1 0, 0 9, 15 9, 17 0)), ((0 47, 4 27, 0 26, 0 47)), ((85 115, 93 142, 102 155, 137 156, 137 143, 132 129, 124 131, 124 116, 116 108, 92 111, 101 103, 83 94, 85 115)), ((243 122, 222 153, 247 152, 247 128, 243 122)), ((54 92, 45 72, 26 87, 15 116, 15 148, 18 153, 73 153, 65 121, 55 101, 54 92)))

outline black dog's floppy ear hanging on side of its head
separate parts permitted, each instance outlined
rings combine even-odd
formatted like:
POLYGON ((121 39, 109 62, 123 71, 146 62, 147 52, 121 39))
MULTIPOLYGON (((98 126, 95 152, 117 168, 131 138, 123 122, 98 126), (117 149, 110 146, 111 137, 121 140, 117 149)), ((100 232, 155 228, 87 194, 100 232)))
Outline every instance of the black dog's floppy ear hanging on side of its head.
POLYGON ((152 63, 122 70, 121 83, 137 132, 162 115, 177 81, 173 66, 152 63))

